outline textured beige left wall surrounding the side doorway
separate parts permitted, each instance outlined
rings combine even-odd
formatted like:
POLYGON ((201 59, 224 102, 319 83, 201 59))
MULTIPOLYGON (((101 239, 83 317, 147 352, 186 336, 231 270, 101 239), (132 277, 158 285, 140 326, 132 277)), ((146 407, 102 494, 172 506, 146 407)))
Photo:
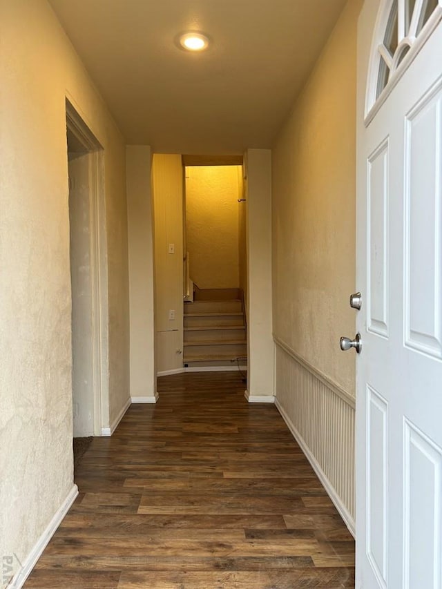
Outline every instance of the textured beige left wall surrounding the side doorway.
POLYGON ((128 398, 125 148, 48 3, 1 0, 0 23, 0 554, 26 563, 74 490, 66 93, 105 154, 108 423, 128 398))

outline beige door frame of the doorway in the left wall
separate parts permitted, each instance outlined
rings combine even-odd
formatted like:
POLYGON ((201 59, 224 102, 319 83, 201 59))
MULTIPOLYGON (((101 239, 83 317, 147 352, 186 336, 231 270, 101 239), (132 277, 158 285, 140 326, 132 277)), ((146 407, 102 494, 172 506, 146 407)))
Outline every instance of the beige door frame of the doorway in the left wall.
POLYGON ((66 126, 88 152, 90 284, 93 364, 93 432, 102 436, 108 399, 108 276, 106 260, 106 209, 104 151, 77 110, 66 98, 66 126))

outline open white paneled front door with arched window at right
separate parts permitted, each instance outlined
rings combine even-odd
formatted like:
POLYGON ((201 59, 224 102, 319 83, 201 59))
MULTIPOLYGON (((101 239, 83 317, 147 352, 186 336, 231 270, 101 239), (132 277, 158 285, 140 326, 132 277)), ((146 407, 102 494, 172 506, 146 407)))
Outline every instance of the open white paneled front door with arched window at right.
POLYGON ((358 128, 356 589, 441 589, 442 8, 367 0, 359 66, 375 3, 365 108, 380 96, 358 128))

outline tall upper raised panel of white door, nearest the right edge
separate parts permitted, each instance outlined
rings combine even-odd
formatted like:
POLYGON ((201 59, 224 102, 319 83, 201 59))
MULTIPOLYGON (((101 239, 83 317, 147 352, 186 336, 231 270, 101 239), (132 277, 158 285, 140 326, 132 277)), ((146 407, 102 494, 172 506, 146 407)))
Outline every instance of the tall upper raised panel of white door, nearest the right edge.
POLYGON ((405 133, 405 341, 436 358, 442 358, 441 106, 439 89, 413 109, 405 133))

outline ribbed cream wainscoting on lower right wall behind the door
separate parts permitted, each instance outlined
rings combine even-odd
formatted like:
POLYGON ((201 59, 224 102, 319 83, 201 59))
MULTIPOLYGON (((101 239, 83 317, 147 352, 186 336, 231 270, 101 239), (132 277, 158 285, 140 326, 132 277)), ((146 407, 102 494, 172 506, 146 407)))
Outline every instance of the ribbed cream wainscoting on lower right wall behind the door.
POLYGON ((275 340, 276 406, 354 535, 354 398, 275 340))

